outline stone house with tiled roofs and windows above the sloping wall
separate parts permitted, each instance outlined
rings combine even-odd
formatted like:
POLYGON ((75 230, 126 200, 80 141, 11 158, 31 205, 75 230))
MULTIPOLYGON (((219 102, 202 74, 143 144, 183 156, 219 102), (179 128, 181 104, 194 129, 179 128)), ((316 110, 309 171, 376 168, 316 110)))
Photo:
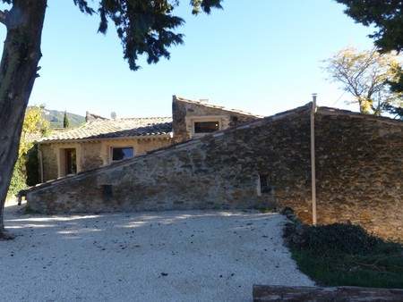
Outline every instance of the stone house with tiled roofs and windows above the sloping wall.
POLYGON ((81 127, 56 130, 51 136, 36 141, 39 180, 45 182, 98 169, 167 147, 174 141, 200 138, 257 118, 252 113, 176 96, 173 96, 173 118, 106 119, 87 112, 86 122, 81 127))

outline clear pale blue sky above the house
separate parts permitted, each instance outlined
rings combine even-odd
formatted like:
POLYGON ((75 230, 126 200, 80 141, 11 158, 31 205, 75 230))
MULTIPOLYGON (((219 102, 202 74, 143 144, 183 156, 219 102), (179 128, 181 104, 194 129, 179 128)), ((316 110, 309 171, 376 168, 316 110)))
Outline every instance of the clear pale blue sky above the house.
MULTIPOLYGON (((97 1, 98 2, 98 1, 97 1)), ((40 78, 30 105, 106 117, 170 116, 172 95, 208 98, 270 115, 304 105, 347 108, 347 94, 331 84, 322 60, 345 46, 373 46, 372 29, 354 23, 332 0, 226 0, 223 11, 194 17, 188 0, 176 12, 186 21, 184 45, 156 65, 130 71, 110 24, 82 14, 73 0, 49 0, 43 29, 40 78), (340 97, 341 96, 341 97, 340 97)), ((4 28, 0 38, 5 38, 4 28)))

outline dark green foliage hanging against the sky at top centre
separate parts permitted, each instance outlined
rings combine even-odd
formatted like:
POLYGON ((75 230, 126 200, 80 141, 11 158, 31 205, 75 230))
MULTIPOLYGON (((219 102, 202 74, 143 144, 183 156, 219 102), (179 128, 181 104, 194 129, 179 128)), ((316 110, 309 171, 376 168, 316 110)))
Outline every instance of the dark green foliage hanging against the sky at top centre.
MULTIPOLYGON (((210 13, 211 8, 222 8, 222 1, 191 0, 190 4, 193 14, 210 13)), ((96 13, 85 0, 73 2, 82 13, 96 13)), ((113 21, 131 70, 139 69, 138 55, 147 55, 147 63, 158 63, 161 56, 169 59, 169 46, 183 44, 184 35, 174 32, 184 25, 182 18, 172 14, 178 4, 179 0, 99 1, 99 32, 106 34, 108 22, 113 21)))

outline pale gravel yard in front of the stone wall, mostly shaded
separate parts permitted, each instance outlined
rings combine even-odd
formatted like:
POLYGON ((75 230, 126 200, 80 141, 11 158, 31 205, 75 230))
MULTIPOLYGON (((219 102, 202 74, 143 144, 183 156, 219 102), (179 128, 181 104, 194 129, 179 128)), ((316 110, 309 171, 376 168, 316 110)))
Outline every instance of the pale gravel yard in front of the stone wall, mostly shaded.
MULTIPOLYGON (((20 210, 20 211, 19 211, 20 210)), ((1 301, 252 301, 253 284, 313 286, 279 214, 28 215, 7 206, 1 301)))

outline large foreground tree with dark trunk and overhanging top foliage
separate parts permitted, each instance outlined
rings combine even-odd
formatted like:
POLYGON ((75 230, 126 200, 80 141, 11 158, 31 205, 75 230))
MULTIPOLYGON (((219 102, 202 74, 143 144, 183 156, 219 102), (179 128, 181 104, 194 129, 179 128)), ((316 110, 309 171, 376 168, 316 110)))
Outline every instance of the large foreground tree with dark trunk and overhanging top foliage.
MULTIPOLYGON (((221 8, 223 0, 190 0, 193 14, 221 8)), ((0 63, 0 239, 10 238, 4 230, 4 202, 18 158, 22 121, 35 79, 38 77, 40 43, 47 0, 0 0, 0 23, 7 31, 0 63), (2 4, 2 5, 3 5, 2 4)), ((116 27, 124 59, 131 70, 139 68, 138 55, 148 63, 169 58, 167 48, 183 43, 183 35, 173 30, 184 20, 173 15, 179 0, 73 0, 82 13, 98 13, 99 32, 108 22, 116 27), (94 4, 95 2, 95 4, 94 4)))

